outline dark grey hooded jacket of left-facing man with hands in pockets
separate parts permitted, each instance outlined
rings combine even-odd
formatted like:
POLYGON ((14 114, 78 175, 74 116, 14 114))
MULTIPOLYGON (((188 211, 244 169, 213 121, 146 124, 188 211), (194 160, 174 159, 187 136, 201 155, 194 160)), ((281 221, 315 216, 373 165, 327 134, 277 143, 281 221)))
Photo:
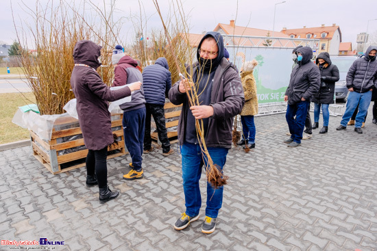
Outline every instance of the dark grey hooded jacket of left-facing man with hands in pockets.
POLYGON ((305 98, 310 101, 314 94, 319 90, 320 75, 318 67, 311 62, 313 51, 311 47, 302 47, 297 49, 297 53, 301 53, 302 60, 297 62, 297 66, 293 68, 291 80, 285 95, 288 96, 288 104, 294 105, 305 98))

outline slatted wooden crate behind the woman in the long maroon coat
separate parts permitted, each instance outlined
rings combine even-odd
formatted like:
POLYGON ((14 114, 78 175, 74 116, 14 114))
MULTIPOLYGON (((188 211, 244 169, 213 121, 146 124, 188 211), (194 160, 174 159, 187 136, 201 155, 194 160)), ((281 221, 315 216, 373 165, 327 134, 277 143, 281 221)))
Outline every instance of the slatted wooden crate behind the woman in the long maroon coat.
MULTIPOLYGON (((119 140, 118 145, 112 145, 108 147, 108 151, 117 152, 108 155, 108 159, 125 155, 126 153, 122 127, 123 114, 112 114, 112 119, 112 129, 114 129, 115 127, 121 127, 120 130, 113 131, 112 133, 117 135, 117 137, 121 137, 121 140, 119 140)), ((36 133, 34 133, 33 131, 29 131, 32 140, 34 157, 36 157, 36 159, 38 159, 38 161, 40 161, 40 163, 42 163, 43 166, 45 166, 53 174, 58 174, 60 172, 66 172, 85 166, 84 159, 86 158, 86 155, 88 155, 88 149, 85 148, 83 138, 59 143, 62 141, 63 137, 82 134, 80 127, 78 127, 78 120, 72 117, 58 118, 54 123, 54 128, 64 127, 64 125, 66 124, 69 125, 75 123, 77 123, 77 126, 73 128, 62 130, 53 129, 51 140, 48 143, 40 139, 40 137, 38 137, 38 135, 36 135, 36 133), (77 148, 79 150, 65 154, 61 154, 62 152, 60 152, 65 152, 64 150, 71 148, 77 148), (75 161, 77 162, 77 160, 84 161, 84 163, 75 163, 75 161), (62 165, 69 167, 62 168, 62 165)))

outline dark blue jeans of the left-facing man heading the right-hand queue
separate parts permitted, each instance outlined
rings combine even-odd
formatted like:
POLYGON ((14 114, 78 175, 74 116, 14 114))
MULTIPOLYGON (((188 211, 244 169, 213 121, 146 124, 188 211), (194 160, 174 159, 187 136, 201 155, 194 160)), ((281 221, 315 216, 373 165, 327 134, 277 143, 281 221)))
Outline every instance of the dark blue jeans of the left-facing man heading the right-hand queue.
POLYGON ((293 141, 298 144, 300 144, 302 140, 302 132, 304 131, 309 105, 310 101, 300 101, 293 105, 287 105, 287 114, 285 114, 285 118, 287 119, 289 133, 291 133, 293 141))

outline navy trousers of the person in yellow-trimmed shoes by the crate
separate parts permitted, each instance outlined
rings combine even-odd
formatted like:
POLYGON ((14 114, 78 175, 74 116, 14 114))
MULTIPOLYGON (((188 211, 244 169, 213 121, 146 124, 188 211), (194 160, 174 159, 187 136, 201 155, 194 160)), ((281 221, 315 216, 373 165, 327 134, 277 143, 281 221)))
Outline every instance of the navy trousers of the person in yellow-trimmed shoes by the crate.
POLYGON ((134 170, 141 170, 145 128, 145 107, 123 113, 124 142, 134 170))

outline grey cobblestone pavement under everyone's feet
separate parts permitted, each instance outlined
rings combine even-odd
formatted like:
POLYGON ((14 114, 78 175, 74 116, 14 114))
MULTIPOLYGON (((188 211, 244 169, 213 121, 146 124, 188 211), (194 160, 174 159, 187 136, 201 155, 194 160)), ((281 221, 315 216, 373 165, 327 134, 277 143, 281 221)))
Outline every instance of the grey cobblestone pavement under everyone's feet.
POLYGON ((353 127, 336 131, 341 117, 331 117, 326 135, 316 129, 297 148, 283 143, 284 114, 255 120, 256 148, 228 154, 229 184, 211 235, 201 233, 204 176, 199 220, 180 232, 172 227, 184 210, 178 153, 145 155, 145 179, 136 181, 122 180, 129 156, 110 159, 108 181, 121 196, 99 204, 98 188, 85 185, 85 168, 53 175, 23 147, 0 152, 1 240, 65 241, 49 246, 59 251, 377 250, 377 126, 371 116, 361 135, 353 127))

